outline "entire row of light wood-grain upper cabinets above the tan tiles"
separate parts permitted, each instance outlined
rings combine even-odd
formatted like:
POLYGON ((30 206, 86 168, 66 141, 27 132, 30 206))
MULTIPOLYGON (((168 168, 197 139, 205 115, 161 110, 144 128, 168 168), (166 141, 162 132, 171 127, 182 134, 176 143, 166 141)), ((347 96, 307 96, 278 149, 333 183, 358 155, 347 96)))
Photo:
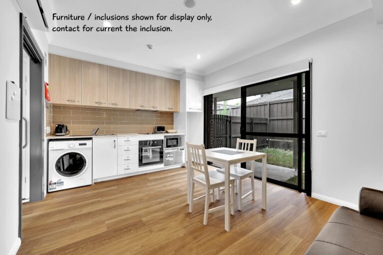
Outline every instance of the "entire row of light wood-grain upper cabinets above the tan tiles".
POLYGON ((180 112, 178 80, 49 54, 49 82, 53 104, 180 112))

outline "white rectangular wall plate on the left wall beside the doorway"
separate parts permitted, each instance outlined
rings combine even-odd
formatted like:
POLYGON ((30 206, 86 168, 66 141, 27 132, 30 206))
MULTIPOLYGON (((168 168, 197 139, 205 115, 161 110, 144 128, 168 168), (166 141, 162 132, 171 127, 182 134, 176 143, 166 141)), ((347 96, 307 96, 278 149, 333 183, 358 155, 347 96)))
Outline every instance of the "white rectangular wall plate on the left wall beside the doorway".
POLYGON ((20 121, 21 90, 14 82, 6 81, 6 119, 20 121))

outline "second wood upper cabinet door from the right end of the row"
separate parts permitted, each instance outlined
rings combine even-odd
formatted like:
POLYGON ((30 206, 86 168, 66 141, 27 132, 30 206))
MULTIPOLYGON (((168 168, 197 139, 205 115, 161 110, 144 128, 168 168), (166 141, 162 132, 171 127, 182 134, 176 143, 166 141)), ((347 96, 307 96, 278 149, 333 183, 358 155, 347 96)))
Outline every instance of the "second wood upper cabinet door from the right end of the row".
POLYGON ((165 111, 166 78, 149 75, 149 110, 165 111))

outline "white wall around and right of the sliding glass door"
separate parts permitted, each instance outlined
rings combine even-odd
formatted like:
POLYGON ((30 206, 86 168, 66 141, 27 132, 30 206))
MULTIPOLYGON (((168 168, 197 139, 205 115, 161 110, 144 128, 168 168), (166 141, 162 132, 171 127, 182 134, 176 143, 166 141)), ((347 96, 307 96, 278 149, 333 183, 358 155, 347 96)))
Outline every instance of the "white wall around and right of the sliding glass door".
POLYGON ((209 74, 204 88, 308 57, 313 196, 356 208, 362 186, 383 190, 383 24, 372 9, 209 74), (328 136, 315 136, 317 130, 328 136))

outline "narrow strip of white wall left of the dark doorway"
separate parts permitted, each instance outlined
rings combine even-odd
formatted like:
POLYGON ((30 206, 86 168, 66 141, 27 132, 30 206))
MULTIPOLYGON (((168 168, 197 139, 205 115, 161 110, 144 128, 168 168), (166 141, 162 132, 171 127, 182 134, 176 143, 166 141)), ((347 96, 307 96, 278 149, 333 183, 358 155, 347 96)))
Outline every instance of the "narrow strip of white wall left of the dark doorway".
POLYGON ((18 121, 5 119, 6 81, 19 85, 19 12, 16 1, 0 8, 0 254, 15 254, 18 239, 18 121))

